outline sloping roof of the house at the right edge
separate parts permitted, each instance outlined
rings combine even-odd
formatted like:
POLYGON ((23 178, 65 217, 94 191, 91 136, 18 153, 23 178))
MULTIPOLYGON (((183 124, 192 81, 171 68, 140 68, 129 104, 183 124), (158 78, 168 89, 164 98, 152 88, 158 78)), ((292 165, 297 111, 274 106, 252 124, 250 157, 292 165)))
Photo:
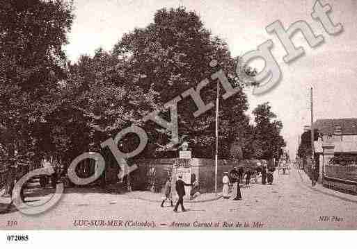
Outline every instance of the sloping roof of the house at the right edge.
POLYGON ((314 128, 322 135, 333 135, 335 127, 340 126, 342 135, 357 135, 357 119, 317 119, 314 128))

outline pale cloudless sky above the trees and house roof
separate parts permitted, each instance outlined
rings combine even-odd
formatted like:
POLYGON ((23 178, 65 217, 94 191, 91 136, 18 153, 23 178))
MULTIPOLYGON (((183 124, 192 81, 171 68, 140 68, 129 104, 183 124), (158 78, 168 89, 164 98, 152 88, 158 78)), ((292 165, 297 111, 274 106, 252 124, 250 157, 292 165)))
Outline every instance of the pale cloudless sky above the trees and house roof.
MULTIPOLYGON (((320 1, 332 7, 329 16, 342 24, 339 35, 328 35, 312 19, 315 0, 74 0, 74 24, 65 46, 68 58, 93 55, 102 47, 110 51, 124 33, 153 22, 160 8, 184 6, 201 17, 205 28, 228 43, 232 56, 256 50, 273 41, 272 53, 282 73, 282 80, 270 92, 260 96, 247 89, 251 112, 269 101, 272 111, 283 121, 282 135, 287 150, 295 157, 303 126, 310 124, 310 87, 313 88, 314 119, 357 118, 357 0, 320 1), (295 46, 303 46, 305 55, 289 64, 283 61, 285 50, 278 37, 265 31, 280 20, 285 28, 296 21, 307 22, 324 43, 310 48, 301 33, 292 37, 295 46)), ((255 64, 258 69, 264 65, 255 64)))

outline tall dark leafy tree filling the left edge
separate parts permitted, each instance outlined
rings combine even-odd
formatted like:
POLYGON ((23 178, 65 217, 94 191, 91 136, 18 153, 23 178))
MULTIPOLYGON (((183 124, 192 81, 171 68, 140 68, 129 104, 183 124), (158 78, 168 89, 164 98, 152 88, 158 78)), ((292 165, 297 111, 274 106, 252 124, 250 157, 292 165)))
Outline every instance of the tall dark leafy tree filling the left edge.
POLYGON ((66 76, 61 47, 72 20, 72 1, 1 1, 0 126, 7 137, 0 142, 9 157, 15 147, 25 157, 46 148, 49 134, 40 131, 61 103, 55 98, 66 76))

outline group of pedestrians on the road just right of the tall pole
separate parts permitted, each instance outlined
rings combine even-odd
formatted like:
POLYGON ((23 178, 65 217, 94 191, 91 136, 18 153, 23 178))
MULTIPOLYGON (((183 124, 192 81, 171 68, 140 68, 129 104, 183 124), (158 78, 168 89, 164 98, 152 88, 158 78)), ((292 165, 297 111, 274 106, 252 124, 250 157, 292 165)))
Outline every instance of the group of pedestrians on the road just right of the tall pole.
POLYGON ((246 187, 249 187, 250 185, 250 181, 251 181, 251 177, 253 175, 253 178, 255 178, 255 182, 257 182, 257 175, 259 173, 262 174, 262 184, 273 184, 273 172, 275 171, 274 167, 269 167, 268 168, 268 164, 267 162, 263 162, 263 164, 261 164, 260 162, 257 162, 257 169, 256 171, 253 171, 251 169, 247 169, 244 172, 243 167, 239 167, 239 169, 237 169, 237 166, 235 166, 232 171, 228 172, 224 172, 223 173, 223 198, 225 199, 229 199, 230 195, 229 195, 229 189, 230 189, 230 184, 232 183, 232 192, 233 195, 235 196, 235 198, 233 198, 233 200, 241 200, 241 190, 239 187, 239 183, 243 181, 244 176, 245 176, 245 184, 246 187))

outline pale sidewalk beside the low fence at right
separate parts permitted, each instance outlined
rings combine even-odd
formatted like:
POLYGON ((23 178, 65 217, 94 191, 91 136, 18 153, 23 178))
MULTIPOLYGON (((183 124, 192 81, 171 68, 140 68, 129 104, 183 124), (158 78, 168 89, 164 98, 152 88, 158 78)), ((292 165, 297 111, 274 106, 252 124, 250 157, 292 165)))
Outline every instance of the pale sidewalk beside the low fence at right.
POLYGON ((306 187, 308 187, 309 189, 311 189, 312 191, 317 191, 321 194, 326 194, 328 196, 333 196, 335 198, 340 198, 341 200, 346 200, 349 201, 351 203, 357 203, 357 196, 351 195, 351 194, 346 194, 337 190, 333 190, 333 189, 328 189, 324 186, 322 186, 321 183, 317 183, 315 185, 315 187, 311 186, 311 180, 308 177, 308 175, 300 169, 295 169, 294 171, 296 171, 297 173, 299 173, 299 177, 301 178, 301 182, 303 182, 303 184, 306 185, 306 187))

